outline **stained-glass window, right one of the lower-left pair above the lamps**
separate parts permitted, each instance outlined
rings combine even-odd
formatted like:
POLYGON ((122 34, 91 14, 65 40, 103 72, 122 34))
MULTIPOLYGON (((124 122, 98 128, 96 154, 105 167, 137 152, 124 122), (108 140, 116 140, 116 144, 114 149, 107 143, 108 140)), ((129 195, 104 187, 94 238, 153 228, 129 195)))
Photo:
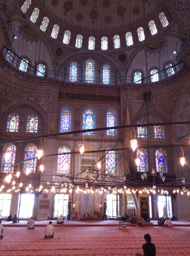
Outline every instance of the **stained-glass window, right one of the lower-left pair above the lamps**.
POLYGON ((23 164, 23 171, 30 171, 30 173, 35 173, 36 172, 36 158, 35 159, 30 159, 37 157, 37 146, 33 143, 29 144, 25 148, 24 152, 24 164, 23 164), (30 159, 30 160, 28 160, 30 159), (26 161, 28 160, 28 161, 26 161))

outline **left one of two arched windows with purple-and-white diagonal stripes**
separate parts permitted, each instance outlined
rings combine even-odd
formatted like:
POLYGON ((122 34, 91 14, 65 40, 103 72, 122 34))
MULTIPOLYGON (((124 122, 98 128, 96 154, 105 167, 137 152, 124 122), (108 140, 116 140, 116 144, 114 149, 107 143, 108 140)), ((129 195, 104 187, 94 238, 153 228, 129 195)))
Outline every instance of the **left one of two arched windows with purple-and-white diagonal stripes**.
MULTIPOLYGON (((58 149, 58 154, 69 153, 71 150, 65 146, 61 146, 58 149)), ((71 162, 71 155, 70 154, 63 154, 58 155, 57 158, 57 173, 65 173, 68 174, 70 171, 70 162, 71 162)))

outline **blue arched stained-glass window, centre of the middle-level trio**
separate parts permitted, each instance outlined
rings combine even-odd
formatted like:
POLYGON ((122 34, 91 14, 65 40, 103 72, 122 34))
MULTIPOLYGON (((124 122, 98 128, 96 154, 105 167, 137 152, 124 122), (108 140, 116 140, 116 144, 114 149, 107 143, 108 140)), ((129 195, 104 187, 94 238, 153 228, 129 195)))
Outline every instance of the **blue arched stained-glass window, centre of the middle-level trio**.
MULTIPOLYGON (((83 110, 83 130, 96 128, 96 110, 91 106, 83 110)), ((83 135, 95 136, 96 132, 83 132, 83 135)))

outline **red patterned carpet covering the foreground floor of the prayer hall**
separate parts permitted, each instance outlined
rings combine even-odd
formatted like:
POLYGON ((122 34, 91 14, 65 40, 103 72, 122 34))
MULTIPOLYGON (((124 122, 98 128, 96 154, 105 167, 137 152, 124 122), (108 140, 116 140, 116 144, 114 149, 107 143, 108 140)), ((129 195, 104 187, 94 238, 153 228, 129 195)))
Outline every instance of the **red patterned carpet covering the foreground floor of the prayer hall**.
POLYGON ((120 230, 117 226, 64 226, 55 227, 52 239, 44 238, 44 227, 28 230, 26 227, 5 227, 0 240, 3 256, 134 256, 142 252, 144 234, 152 236, 156 256, 190 255, 189 227, 136 227, 120 230), (56 239, 60 237, 60 239, 56 239))

